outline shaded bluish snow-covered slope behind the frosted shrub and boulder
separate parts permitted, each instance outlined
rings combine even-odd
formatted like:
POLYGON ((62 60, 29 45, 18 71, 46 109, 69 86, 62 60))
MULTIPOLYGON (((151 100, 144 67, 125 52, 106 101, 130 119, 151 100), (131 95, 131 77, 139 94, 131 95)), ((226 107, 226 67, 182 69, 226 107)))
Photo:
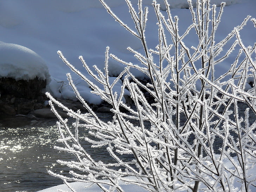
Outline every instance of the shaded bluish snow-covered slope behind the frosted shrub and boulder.
MULTIPOLYGON (((106 0, 113 11, 125 23, 133 26, 133 21, 129 16, 128 9, 124 0, 106 0)), ((132 0, 136 5, 137 0, 132 0)), ((148 46, 154 48, 157 45, 157 26, 151 0, 144 0, 144 4, 149 6, 149 20, 147 24, 148 46)), ((164 0, 159 3, 162 9, 165 8, 164 0)), ((193 0, 195 2, 195 0, 193 0)), ((222 0, 212 0, 212 3, 217 5, 222 0)), ((227 5, 222 18, 222 23, 219 26, 218 36, 216 40, 223 39, 234 26, 242 23, 247 15, 256 17, 256 1, 255 0, 227 0, 227 5)), ((186 27, 191 24, 190 11, 186 8, 186 0, 171 0, 169 3, 172 6, 172 15, 179 16, 180 32, 184 32, 186 27)), ((110 46, 110 52, 120 57, 123 60, 137 63, 126 48, 131 46, 133 49, 140 51, 142 46, 140 41, 123 29, 114 19, 105 11, 98 0, 11 0, 0 1, 0 41, 5 43, 18 44, 36 52, 38 62, 34 65, 40 65, 37 71, 41 71, 42 76, 47 75, 45 63, 49 68, 51 82, 47 89, 53 96, 63 98, 74 98, 72 90, 68 88, 68 83, 65 74, 70 72, 70 69, 65 66, 62 60, 58 57, 57 51, 63 52, 64 56, 77 69, 84 71, 84 68, 78 57, 83 56, 87 64, 98 65, 101 68, 104 66, 105 47, 110 46)), ((253 24, 248 23, 247 27, 241 33, 242 39, 246 46, 253 45, 256 41, 255 29, 253 24)), ((188 38, 187 44, 193 45, 196 41, 194 38, 188 38)), ((5 44, 6 45, 6 44, 5 44)), ((10 44, 8 44, 10 45, 10 44)), ((0 56, 3 60, 6 52, 0 47, 0 56), (2 58, 3 57, 3 58, 2 58)), ((15 52, 15 51, 14 51, 15 52)), ((16 51, 15 53, 18 53, 16 51)), ((36 54, 35 53, 35 54, 36 54)), ((7 53, 12 56, 12 66, 17 66, 18 60, 24 60, 22 54, 7 53)), ((35 56, 35 55, 34 55, 35 56)), ((226 68, 229 68, 234 58, 226 60, 217 72, 221 73, 226 68)), ((4 59, 5 60, 5 59, 4 59)), ((33 58, 32 58, 33 60, 33 58)), ((7 62, 8 63, 8 62, 7 62)), ((19 62, 20 64, 24 62, 19 62)), ((1 62, 1 64, 6 64, 1 62)), ((10 63, 9 63, 10 64, 10 63)), ((28 65, 27 63, 24 65, 28 65)), ((13 70, 23 68, 3 68, 1 67, 0 75, 11 73, 13 70)), ((110 75, 118 75, 123 69, 123 66, 113 60, 110 60, 110 75)), ((28 73, 36 76, 37 72, 25 71, 20 73, 28 73)), ((22 76, 22 74, 20 74, 22 76)), ((15 74, 18 74, 16 71, 15 74)), ((71 73, 72 74, 72 73, 71 73)), ((139 72, 134 71, 137 77, 142 77, 139 72)), ((26 75, 25 75, 26 76, 26 75)), ((25 79, 27 78, 24 77, 25 79)), ((101 99, 97 96, 92 96, 90 88, 85 85, 78 77, 73 77, 80 94, 85 100, 90 103, 100 103, 101 99)))

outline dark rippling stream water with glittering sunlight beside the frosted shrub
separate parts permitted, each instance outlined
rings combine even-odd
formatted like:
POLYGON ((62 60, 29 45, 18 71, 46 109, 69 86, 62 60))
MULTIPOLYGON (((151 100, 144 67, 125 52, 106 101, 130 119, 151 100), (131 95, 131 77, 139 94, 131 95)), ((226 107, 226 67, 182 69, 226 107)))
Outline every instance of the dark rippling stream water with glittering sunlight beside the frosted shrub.
MULTIPOLYGON (((67 172, 56 161, 73 158, 53 148, 59 145, 56 121, 0 117, 0 191, 38 191, 63 184, 61 179, 47 173, 49 169, 67 172)), ((104 152, 91 153, 96 159, 100 155, 108 158, 104 152)))

